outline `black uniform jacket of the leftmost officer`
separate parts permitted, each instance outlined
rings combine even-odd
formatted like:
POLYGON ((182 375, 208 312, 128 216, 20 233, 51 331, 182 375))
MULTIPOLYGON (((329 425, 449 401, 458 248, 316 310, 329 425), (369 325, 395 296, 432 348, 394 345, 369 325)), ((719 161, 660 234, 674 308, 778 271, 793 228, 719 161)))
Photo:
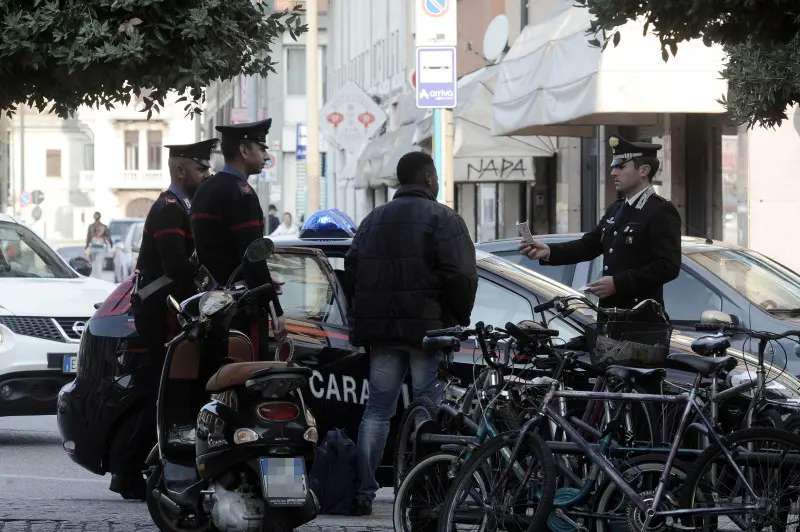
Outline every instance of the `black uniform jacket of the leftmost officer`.
POLYGON ((161 315, 158 313, 166 309, 168 294, 181 301, 195 293, 193 283, 198 265, 191 260, 192 253, 194 237, 189 212, 175 194, 162 192, 147 213, 136 269, 139 289, 162 275, 173 282, 143 301, 141 312, 161 315))

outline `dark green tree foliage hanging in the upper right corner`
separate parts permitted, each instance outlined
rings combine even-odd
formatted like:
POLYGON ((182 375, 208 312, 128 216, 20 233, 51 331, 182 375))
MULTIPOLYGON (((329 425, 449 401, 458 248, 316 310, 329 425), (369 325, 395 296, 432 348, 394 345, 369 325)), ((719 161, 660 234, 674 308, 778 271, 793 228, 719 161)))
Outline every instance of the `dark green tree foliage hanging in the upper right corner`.
MULTIPOLYGON (((737 124, 774 127, 800 103, 800 0, 577 0, 595 21, 602 44, 619 43, 616 28, 645 22, 658 36, 662 58, 678 44, 702 39, 722 45, 728 95, 721 99, 737 124)), ((691 87, 687 87, 691 91, 691 87)))

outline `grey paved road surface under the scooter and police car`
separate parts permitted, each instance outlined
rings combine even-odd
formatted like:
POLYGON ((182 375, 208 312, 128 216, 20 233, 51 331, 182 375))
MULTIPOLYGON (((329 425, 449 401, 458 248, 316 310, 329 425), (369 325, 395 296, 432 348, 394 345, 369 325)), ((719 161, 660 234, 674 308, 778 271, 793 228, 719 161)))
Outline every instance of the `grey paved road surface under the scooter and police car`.
MULTIPOLYGON (((0 418, 0 532, 157 532, 141 502, 108 491, 61 450, 55 416, 0 418)), ((367 518, 325 516, 302 530, 388 530, 391 490, 367 518)))

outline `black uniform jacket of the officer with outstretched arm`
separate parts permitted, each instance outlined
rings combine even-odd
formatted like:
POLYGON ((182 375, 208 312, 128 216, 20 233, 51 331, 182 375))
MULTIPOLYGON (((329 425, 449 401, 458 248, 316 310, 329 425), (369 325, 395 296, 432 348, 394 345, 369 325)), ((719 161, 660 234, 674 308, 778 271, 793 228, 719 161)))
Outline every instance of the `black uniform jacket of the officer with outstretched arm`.
MULTIPOLYGON (((603 255, 603 276, 613 276, 616 294, 601 307, 632 308, 652 298, 664 304, 664 285, 681 267, 681 217, 668 200, 646 190, 633 205, 611 204, 593 231, 572 242, 552 244, 542 264, 576 264, 603 255), (647 197, 645 197, 647 196, 647 197)), ((665 309, 665 311, 668 309, 665 309)))

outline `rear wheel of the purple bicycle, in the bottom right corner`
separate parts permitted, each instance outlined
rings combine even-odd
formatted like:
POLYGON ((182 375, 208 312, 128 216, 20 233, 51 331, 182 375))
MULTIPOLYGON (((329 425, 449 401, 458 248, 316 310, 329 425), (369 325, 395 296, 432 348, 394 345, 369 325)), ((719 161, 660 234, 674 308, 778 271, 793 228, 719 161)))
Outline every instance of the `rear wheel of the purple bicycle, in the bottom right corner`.
POLYGON ((800 436, 759 427, 733 432, 723 441, 725 450, 714 444, 695 461, 680 496, 680 508, 757 508, 747 513, 730 511, 719 518, 694 515, 684 519, 684 526, 689 524, 697 532, 716 530, 717 525, 747 532, 796 530, 800 523, 794 504, 800 493, 800 436), (726 450, 733 456, 735 468, 725 459, 726 450), (745 461, 748 450, 759 456, 745 461))

